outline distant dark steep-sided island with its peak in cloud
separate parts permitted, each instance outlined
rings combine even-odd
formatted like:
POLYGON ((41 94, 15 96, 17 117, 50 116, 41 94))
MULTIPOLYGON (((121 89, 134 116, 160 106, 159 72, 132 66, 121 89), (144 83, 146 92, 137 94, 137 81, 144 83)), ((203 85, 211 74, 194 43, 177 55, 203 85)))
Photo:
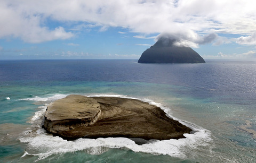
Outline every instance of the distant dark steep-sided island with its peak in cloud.
POLYGON ((195 50, 176 46, 174 39, 161 38, 142 53, 138 63, 205 63, 195 50))

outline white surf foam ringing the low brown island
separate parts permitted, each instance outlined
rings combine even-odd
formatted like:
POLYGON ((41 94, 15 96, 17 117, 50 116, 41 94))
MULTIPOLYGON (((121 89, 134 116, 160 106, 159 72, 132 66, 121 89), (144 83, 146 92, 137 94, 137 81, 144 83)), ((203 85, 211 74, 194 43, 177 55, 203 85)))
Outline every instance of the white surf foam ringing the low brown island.
MULTIPOLYGON (((61 95, 62 97, 64 95, 61 95)), ((97 96, 110 96, 110 97, 121 97, 130 98, 123 95, 89 95, 88 97, 97 96)), ((54 97, 60 97, 54 95, 54 97)), ((66 95, 65 95, 66 97, 66 95)), ((49 99, 49 98, 48 98, 49 99)), ((48 100, 47 99, 47 100, 48 100)), ((138 99, 138 98, 132 98, 138 99)), ((44 159, 51 155, 56 155, 65 152, 74 152, 84 150, 91 155, 100 155, 106 152, 109 148, 127 148, 134 152, 146 152, 152 153, 153 155, 170 155, 172 157, 186 158, 186 153, 189 153, 198 146, 207 146, 211 143, 211 132, 199 127, 195 124, 182 121, 170 115, 170 108, 163 106, 159 103, 151 101, 149 99, 139 99, 149 104, 161 107, 165 113, 172 117, 173 119, 179 121, 182 124, 187 125, 195 131, 194 134, 184 134, 186 138, 184 139, 171 139, 171 140, 151 140, 147 144, 138 145, 134 141, 127 138, 98 138, 98 139, 77 139, 75 141, 63 140, 59 136, 52 136, 47 134, 41 125, 36 125, 43 121, 43 115, 46 106, 42 106, 41 110, 37 111, 35 115, 31 118, 31 123, 33 123, 34 130, 23 132, 22 136, 19 138, 21 142, 28 143, 29 149, 26 155, 37 156, 38 160, 44 159), (41 121, 39 121, 41 120, 41 121), (37 151, 36 153, 33 153, 37 151)), ((25 156, 25 154, 24 154, 25 156)))

